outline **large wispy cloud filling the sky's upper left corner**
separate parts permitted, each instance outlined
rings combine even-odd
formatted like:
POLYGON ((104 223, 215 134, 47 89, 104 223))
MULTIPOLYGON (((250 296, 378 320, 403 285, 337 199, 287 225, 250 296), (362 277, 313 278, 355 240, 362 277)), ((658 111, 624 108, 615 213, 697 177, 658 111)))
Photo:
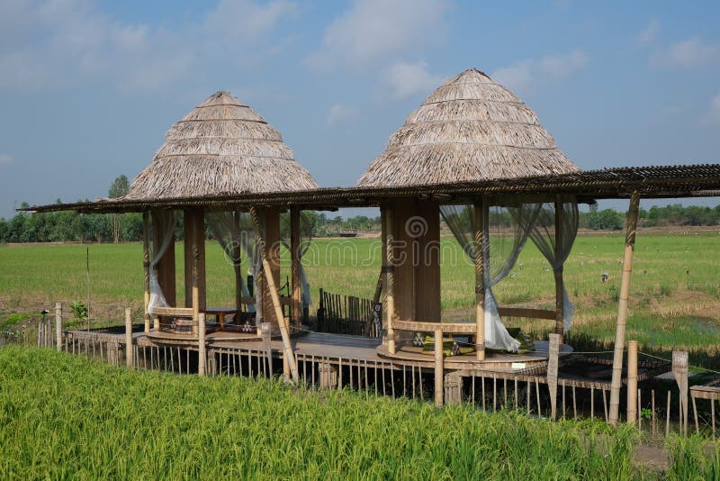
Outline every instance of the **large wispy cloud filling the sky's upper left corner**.
POLYGON ((294 8, 286 0, 223 0, 204 21, 171 31, 118 22, 89 0, 0 2, 0 87, 99 81, 124 90, 157 90, 206 69, 213 55, 228 55, 230 45, 233 59, 243 45, 255 49, 294 8))

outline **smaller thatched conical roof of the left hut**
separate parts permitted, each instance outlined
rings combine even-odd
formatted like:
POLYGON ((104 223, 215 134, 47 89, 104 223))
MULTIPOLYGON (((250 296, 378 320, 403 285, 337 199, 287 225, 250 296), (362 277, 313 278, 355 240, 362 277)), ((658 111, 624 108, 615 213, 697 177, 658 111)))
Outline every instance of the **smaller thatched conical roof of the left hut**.
POLYGON ((229 92, 175 123, 124 199, 166 199, 317 188, 279 132, 229 92))

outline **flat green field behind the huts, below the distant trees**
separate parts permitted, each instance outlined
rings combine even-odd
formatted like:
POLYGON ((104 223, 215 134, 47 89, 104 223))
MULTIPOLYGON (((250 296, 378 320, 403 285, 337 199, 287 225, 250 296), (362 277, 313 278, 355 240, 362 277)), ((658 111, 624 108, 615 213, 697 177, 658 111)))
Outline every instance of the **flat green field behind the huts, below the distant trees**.
MULTIPOLYGON (((509 240, 500 242, 509 242, 509 240)), ((583 234, 565 264, 568 293, 577 306, 572 339, 603 349, 614 339, 622 270, 621 234, 583 234), (601 282, 603 273, 607 282, 601 282)), ((56 301, 87 300, 86 257, 90 259, 90 313, 98 322, 120 321, 123 308, 142 309, 142 249, 139 243, 24 245, 0 247, 0 323, 10 313, 37 313, 56 301)), ((473 319, 474 271, 452 237, 443 237, 443 319, 473 319)), ((183 286, 183 246, 178 243, 177 286, 183 286)), ((377 238, 316 239, 303 258, 317 309, 320 288, 372 298, 381 264, 377 238)), ((284 251, 283 280, 289 273, 284 251)), ((554 280, 547 262, 528 243, 516 267, 495 287, 500 304, 552 309, 554 280)), ((233 272, 215 242, 207 244, 209 305, 233 302, 233 272)), ((178 302, 183 292, 178 288, 178 302)), ((627 339, 653 352, 671 348, 697 352, 707 365, 720 346, 720 232, 641 232, 635 248, 627 339)), ((14 319, 17 319, 15 314, 14 319)), ((506 320, 543 336, 553 322, 506 320)), ((578 347, 578 346, 576 346, 578 347)))

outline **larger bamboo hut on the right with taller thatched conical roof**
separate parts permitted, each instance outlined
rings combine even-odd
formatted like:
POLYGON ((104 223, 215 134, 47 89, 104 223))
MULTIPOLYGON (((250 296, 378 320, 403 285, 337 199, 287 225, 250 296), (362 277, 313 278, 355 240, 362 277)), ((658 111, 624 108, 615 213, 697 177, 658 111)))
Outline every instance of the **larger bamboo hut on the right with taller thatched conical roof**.
MULTIPOLYGON (((392 134, 387 148, 360 177, 358 186, 410 188, 576 172, 579 168, 557 148, 536 113, 509 89, 480 70, 469 68, 438 87, 408 115, 404 125, 392 134)), ((443 205, 437 195, 382 204, 385 324, 390 354, 397 349, 396 330, 439 330, 474 335, 477 358, 485 358, 485 340, 493 334, 490 314, 485 308, 490 298, 484 286, 488 279, 484 271, 489 269, 489 259, 483 259, 483 255, 487 257, 489 253, 488 208, 492 203, 512 204, 516 200, 517 197, 487 195, 465 199, 464 202, 470 204, 470 211, 466 213, 472 212, 474 231, 471 237, 461 239, 462 234, 453 229, 466 252, 473 255, 476 265, 474 325, 440 322, 439 250, 431 246, 439 246, 441 212, 453 228, 456 210, 453 212, 451 206, 443 205), (408 262, 413 252, 426 252, 427 259, 408 262)), ((546 195, 537 195, 521 202, 546 203, 548 200, 546 195)), ((557 213, 563 213, 563 209, 558 207, 557 213)), ((553 222, 556 220, 558 226, 562 225, 560 219, 553 222)), ((523 235, 530 229, 532 226, 528 225, 523 235)), ((557 313, 524 310, 513 314, 541 317, 550 314, 557 319, 558 333, 563 334, 562 262, 554 270, 558 284, 557 313)), ((509 345, 496 340, 491 347, 508 348, 509 345)))

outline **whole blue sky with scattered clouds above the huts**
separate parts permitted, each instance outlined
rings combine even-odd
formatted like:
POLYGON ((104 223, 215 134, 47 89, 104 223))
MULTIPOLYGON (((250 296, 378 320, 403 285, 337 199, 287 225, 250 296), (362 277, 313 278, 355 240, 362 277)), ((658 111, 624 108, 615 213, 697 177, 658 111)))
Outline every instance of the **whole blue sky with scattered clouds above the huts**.
POLYGON ((106 195, 229 90, 320 186, 480 68, 581 168, 720 161, 719 2, 0 2, 0 216, 106 195))

